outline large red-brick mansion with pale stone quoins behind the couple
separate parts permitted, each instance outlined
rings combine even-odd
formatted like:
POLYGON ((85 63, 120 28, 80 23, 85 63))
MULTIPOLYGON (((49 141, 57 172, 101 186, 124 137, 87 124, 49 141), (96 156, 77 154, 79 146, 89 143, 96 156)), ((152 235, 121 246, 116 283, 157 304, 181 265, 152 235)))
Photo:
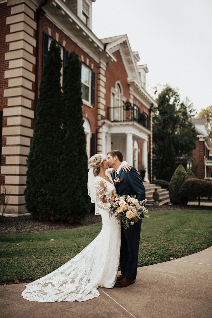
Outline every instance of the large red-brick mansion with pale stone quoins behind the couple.
POLYGON ((82 62, 88 157, 118 148, 138 170, 144 166, 146 182, 152 179, 151 110, 157 104, 146 92, 148 68, 137 65, 127 35, 100 40, 92 33, 94 1, 0 0, 0 182, 10 192, 6 213, 26 212, 26 158, 52 38, 61 47, 62 73, 70 51, 82 62))

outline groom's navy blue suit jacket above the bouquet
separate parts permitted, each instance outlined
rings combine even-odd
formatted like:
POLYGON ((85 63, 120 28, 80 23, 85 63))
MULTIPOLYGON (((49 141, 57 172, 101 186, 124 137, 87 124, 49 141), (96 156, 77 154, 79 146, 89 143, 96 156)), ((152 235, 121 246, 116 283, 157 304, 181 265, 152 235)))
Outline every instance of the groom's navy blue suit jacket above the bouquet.
MULTIPOLYGON (((120 170, 118 178, 122 179, 122 183, 115 184, 116 192, 118 195, 137 195, 139 201, 145 200, 145 188, 141 181, 138 171, 131 167, 130 171, 125 172, 120 170)), ((115 179, 115 171, 113 172, 113 179, 115 179)))

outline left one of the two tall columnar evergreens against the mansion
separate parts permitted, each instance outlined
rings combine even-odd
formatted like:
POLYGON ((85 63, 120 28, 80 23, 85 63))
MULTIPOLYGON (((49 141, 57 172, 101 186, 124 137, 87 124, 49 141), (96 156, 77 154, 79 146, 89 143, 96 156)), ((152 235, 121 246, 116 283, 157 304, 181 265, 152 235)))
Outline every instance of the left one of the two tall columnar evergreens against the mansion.
POLYGON ((34 134, 27 158, 25 202, 39 219, 57 213, 58 171, 61 144, 60 48, 51 42, 42 70, 34 134))

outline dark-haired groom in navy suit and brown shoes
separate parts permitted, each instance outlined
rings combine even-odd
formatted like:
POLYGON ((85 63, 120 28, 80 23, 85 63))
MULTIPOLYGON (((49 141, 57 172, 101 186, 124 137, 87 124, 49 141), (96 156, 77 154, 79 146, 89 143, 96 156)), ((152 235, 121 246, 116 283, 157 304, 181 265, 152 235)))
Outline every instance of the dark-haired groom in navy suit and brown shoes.
MULTIPOLYGON (((137 199, 145 199, 145 188, 141 181, 138 171, 132 167, 128 172, 122 171, 121 162, 123 155, 119 150, 113 150, 107 154, 107 163, 109 168, 115 169, 113 180, 117 177, 121 180, 115 184, 118 195, 137 195, 137 199)), ((120 249, 120 266, 121 275, 117 277, 115 286, 127 287, 133 284, 136 279, 138 265, 138 250, 140 240, 141 219, 135 220, 126 230, 121 222, 121 249, 120 249)))

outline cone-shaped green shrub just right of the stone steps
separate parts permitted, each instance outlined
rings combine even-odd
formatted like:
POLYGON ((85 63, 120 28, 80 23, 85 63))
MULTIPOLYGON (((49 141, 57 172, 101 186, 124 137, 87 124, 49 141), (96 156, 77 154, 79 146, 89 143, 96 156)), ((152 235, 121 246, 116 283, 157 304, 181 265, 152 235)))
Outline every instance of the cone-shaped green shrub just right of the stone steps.
POLYGON ((179 194, 179 190, 183 182, 188 179, 186 170, 182 165, 179 165, 175 170, 170 183, 169 183, 169 198, 171 203, 174 204, 187 204, 188 197, 184 197, 183 194, 179 194))

